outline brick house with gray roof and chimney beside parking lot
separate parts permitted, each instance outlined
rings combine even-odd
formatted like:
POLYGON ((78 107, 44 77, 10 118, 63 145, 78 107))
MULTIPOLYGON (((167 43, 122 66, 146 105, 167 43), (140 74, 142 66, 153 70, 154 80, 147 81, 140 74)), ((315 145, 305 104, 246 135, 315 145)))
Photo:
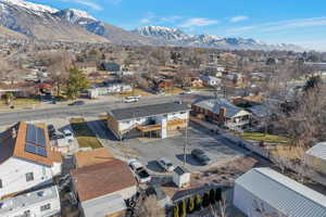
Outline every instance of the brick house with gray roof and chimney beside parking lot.
POLYGON ((225 99, 211 99, 195 102, 191 105, 195 116, 215 122, 230 129, 244 128, 250 124, 251 114, 237 107, 225 99))

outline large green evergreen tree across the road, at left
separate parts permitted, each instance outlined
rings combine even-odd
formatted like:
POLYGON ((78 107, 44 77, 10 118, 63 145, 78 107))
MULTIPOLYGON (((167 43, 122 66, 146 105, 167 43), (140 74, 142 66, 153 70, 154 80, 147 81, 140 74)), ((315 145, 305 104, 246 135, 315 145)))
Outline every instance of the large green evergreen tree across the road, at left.
POLYGON ((77 98, 82 91, 88 89, 89 82, 87 77, 83 74, 82 71, 77 68, 71 68, 70 77, 66 84, 66 95, 70 99, 77 98))

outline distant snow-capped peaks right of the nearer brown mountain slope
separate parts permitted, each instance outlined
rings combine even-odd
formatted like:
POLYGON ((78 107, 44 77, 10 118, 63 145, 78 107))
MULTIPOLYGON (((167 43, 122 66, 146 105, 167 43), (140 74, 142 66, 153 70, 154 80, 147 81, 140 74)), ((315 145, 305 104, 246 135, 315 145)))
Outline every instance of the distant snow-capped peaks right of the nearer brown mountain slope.
POLYGON ((162 26, 142 26, 133 33, 140 36, 161 39, 176 46, 204 47, 217 49, 258 49, 258 50, 301 50, 294 44, 267 44, 255 39, 224 38, 212 35, 187 35, 177 28, 162 26))

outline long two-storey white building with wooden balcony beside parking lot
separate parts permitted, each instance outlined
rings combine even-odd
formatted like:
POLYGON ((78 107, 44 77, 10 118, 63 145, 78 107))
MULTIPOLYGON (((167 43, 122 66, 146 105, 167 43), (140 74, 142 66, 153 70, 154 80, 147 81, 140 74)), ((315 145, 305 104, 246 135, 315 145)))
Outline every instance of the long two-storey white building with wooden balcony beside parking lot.
POLYGON ((189 120, 187 104, 179 102, 117 108, 108 112, 108 127, 117 139, 170 137, 185 129, 189 120))

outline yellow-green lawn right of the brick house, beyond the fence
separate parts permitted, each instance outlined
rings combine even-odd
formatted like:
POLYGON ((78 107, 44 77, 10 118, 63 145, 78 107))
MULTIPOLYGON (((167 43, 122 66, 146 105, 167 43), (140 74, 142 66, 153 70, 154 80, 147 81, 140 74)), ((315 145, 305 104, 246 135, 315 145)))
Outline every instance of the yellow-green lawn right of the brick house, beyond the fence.
POLYGON ((261 132, 243 132, 239 136, 244 140, 264 141, 268 143, 289 143, 289 139, 287 138, 275 135, 264 135, 261 132))

